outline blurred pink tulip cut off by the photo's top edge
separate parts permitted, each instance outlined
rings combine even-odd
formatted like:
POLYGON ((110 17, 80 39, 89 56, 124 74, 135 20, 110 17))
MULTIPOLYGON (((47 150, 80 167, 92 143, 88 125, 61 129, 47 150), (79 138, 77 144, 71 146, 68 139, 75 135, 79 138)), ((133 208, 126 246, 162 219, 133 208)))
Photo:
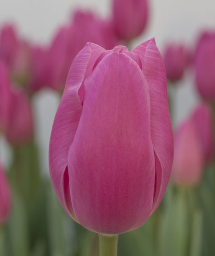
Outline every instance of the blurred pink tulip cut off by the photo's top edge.
POLYGON ((114 25, 121 39, 139 36, 148 20, 148 0, 113 0, 114 25))

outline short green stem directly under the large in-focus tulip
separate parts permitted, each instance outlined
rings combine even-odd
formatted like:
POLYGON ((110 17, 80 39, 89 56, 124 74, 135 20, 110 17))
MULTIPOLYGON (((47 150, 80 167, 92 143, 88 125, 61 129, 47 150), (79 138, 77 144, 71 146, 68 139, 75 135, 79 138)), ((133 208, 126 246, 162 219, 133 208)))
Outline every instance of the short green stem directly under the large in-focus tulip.
POLYGON ((99 234, 100 256, 117 256, 118 236, 99 234))

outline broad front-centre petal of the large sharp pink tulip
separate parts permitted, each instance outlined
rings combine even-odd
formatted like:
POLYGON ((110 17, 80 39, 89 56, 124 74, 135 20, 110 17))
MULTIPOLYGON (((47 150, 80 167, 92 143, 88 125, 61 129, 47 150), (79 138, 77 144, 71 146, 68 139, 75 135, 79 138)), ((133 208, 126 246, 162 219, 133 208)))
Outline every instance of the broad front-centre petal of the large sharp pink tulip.
POLYGON ((144 224, 153 204, 148 84, 132 59, 114 52, 99 62, 84 89, 68 154, 73 209, 92 231, 130 231, 144 224))

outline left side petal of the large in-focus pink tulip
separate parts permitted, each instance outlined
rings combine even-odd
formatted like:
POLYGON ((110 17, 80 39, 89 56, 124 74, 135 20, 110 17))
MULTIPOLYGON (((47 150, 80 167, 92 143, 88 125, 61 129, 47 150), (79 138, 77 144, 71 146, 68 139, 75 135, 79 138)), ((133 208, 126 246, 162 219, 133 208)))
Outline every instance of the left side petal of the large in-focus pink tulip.
MULTIPOLYGON (((91 72, 96 59, 104 51, 100 46, 87 43, 72 63, 66 87, 58 107, 49 144, 49 170, 54 189, 66 212, 73 215, 72 205, 68 202, 69 185, 64 181, 67 169, 68 149, 74 139, 80 120, 82 106, 78 89, 86 73, 91 72), (67 203, 66 203, 67 202, 67 203)), ((67 180, 65 178, 65 180, 67 180)))

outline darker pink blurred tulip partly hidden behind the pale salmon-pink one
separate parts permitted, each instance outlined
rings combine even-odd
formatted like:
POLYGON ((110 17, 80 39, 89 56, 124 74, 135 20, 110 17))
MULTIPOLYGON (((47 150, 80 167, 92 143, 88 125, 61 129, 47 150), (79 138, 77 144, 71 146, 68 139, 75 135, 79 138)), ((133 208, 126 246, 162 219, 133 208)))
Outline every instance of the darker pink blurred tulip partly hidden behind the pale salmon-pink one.
POLYGON ((192 118, 201 140, 204 161, 208 163, 214 153, 214 129, 211 110, 205 103, 202 103, 195 109, 192 118))

